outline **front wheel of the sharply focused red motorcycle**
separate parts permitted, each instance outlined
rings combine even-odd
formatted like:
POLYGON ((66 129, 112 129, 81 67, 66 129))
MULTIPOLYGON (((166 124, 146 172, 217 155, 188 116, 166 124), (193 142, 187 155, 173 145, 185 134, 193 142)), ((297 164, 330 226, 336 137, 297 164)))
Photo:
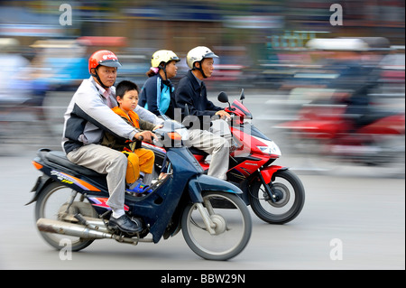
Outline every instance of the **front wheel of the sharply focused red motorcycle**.
POLYGON ((268 185, 279 196, 276 202, 270 200, 261 181, 250 187, 250 204, 258 218, 270 224, 285 224, 296 218, 305 202, 305 190, 298 176, 290 170, 280 170, 268 185), (292 200, 293 199, 293 200, 292 200))

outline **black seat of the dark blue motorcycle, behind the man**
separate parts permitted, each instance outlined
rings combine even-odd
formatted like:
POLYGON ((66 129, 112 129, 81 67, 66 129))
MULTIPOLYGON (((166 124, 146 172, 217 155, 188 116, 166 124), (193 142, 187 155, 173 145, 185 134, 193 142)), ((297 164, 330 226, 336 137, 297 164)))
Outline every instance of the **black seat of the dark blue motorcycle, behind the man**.
POLYGON ((64 168, 67 168, 71 171, 77 172, 78 174, 81 175, 86 175, 89 177, 105 177, 106 175, 100 174, 96 171, 93 171, 91 169, 88 169, 84 166, 71 163, 69 159, 66 157, 66 154, 62 151, 49 151, 49 150, 42 150, 42 158, 45 161, 48 161, 50 163, 58 164, 64 168))

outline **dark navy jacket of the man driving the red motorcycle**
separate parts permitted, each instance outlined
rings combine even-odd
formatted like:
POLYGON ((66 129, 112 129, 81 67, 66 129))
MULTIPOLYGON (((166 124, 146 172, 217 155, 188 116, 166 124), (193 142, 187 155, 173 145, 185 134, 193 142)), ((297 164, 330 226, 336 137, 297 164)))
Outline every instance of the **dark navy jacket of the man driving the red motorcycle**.
POLYGON ((200 86, 198 80, 188 71, 186 76, 180 79, 178 87, 175 90, 176 106, 181 108, 182 116, 185 116, 185 104, 189 107, 190 116, 198 116, 203 128, 203 116, 214 116, 217 111, 223 110, 215 106, 208 100, 208 92, 204 82, 200 86))

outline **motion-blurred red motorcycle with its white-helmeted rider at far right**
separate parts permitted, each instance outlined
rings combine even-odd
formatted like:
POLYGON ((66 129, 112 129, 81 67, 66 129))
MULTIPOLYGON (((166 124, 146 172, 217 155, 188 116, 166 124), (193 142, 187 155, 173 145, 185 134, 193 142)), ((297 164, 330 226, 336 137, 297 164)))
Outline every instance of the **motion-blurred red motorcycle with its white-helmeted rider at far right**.
POLYGON ((404 105, 393 107, 389 95, 374 93, 387 74, 372 64, 386 51, 374 46, 382 42, 378 37, 308 42, 312 49, 328 51, 337 76, 324 95, 300 108, 296 119, 277 125, 297 152, 324 162, 389 168, 404 177, 404 105))

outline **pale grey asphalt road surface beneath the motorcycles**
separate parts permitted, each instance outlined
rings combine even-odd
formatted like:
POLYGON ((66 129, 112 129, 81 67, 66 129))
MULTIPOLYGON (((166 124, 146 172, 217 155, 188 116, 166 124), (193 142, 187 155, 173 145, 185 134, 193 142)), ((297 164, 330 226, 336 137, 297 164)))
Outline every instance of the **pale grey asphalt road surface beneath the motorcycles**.
POLYGON ((263 223, 245 250, 226 262, 203 260, 181 233, 138 246, 97 240, 61 260, 37 232, 30 190, 40 175, 34 153, 0 158, 0 269, 405 269, 405 181, 371 176, 306 175, 306 203, 288 224, 263 223))

